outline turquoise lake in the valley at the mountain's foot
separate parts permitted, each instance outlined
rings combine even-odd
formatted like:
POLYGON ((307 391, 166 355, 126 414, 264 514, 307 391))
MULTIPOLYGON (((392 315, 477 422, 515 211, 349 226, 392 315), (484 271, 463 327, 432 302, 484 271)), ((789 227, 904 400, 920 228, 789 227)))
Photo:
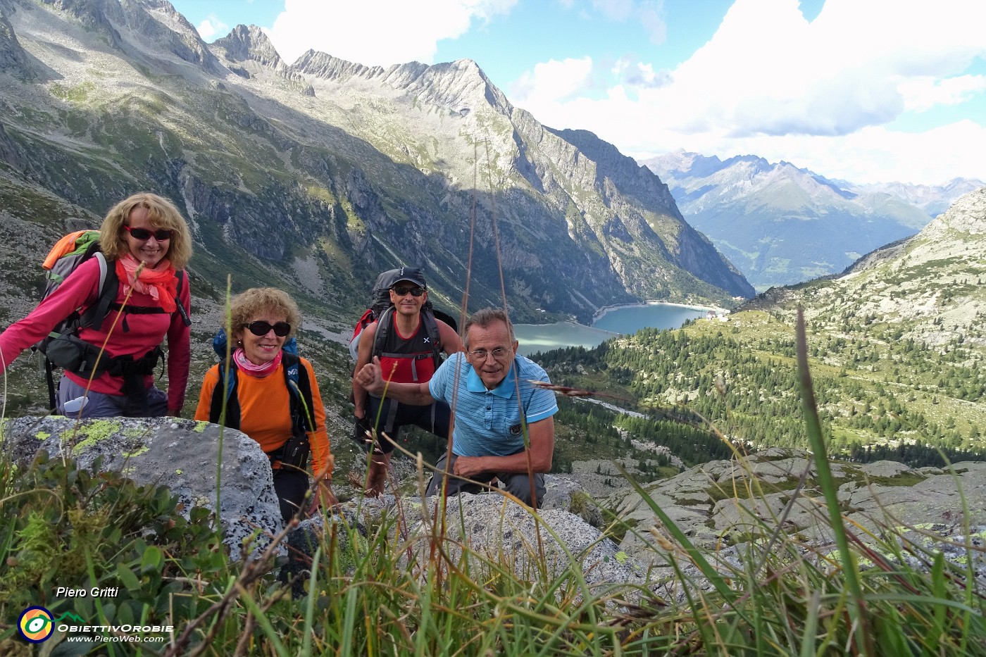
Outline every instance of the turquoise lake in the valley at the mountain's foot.
POLYGON ((708 309, 686 308, 671 304, 621 306, 608 311, 592 327, 574 322, 557 324, 519 324, 514 327, 521 343, 518 350, 529 355, 565 346, 597 346, 619 333, 635 333, 641 328, 679 328, 688 320, 705 317, 708 309))

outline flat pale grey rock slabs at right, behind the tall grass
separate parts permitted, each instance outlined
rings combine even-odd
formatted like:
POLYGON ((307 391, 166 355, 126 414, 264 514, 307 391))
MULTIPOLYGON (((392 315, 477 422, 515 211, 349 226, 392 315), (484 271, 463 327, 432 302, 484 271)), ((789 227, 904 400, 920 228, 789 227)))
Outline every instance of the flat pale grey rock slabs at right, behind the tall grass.
MULTIPOLYGON (((884 528, 934 527, 954 536, 964 523, 986 525, 986 463, 911 469, 899 463, 832 463, 846 526, 860 540, 884 528), (964 508, 967 514, 963 513, 964 508)), ((810 455, 769 449, 736 460, 712 461, 645 486, 648 496, 697 547, 735 546, 768 537, 778 526, 814 547, 832 541, 810 455), (798 483, 805 477, 804 486, 798 483), (794 492, 798 491, 795 496, 794 492)), ((642 561, 665 565, 667 550, 654 532, 667 528, 638 493, 625 489, 602 501, 630 528, 619 547, 642 561), (654 532, 652 532, 652 529, 654 532)))

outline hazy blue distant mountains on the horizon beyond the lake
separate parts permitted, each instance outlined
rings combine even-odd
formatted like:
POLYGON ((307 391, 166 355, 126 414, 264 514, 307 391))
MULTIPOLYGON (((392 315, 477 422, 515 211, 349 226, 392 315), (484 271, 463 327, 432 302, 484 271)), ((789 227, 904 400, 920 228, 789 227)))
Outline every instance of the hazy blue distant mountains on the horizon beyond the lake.
POLYGON ((787 162, 722 161, 685 151, 641 164, 669 185, 685 219, 758 290, 840 272, 917 233, 955 198, 983 185, 854 185, 787 162))

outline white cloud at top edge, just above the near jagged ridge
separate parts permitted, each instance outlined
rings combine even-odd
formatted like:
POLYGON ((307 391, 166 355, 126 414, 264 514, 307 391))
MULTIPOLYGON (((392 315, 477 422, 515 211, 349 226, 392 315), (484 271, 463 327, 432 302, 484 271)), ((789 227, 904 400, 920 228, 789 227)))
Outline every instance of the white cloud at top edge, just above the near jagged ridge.
POLYGON ((335 57, 387 66, 432 63, 437 42, 463 35, 517 0, 287 0, 268 36, 281 57, 295 61, 309 48, 335 57))

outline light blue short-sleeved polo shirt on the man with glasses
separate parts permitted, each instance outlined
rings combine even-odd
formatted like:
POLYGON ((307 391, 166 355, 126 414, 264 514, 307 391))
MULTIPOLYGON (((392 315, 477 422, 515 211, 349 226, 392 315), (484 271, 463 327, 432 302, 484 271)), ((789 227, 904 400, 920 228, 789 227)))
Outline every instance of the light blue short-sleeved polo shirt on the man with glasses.
POLYGON ((457 456, 510 456, 524 449, 521 412, 527 423, 558 412, 554 393, 529 381, 548 382, 548 375, 533 361, 515 356, 510 372, 493 390, 486 390, 465 354, 449 356, 428 383, 436 400, 445 401, 456 413, 452 451, 457 456), (458 395, 456 372, 458 371, 458 395), (520 372, 520 386, 515 373, 520 372), (520 390, 521 403, 517 402, 520 390))

